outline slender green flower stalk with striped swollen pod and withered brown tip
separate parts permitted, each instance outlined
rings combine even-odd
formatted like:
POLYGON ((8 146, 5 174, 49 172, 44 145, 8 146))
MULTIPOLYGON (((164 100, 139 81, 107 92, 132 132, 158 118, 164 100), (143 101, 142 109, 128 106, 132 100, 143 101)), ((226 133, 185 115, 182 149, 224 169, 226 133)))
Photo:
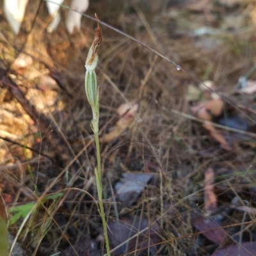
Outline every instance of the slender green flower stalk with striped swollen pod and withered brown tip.
POLYGON ((88 52, 88 56, 85 62, 85 77, 84 77, 84 86, 86 97, 88 102, 92 107, 93 119, 91 122, 92 131, 95 137, 95 145, 97 151, 97 168, 95 167, 95 177, 96 177, 96 186, 99 197, 99 207, 100 207, 100 216, 102 218, 103 232, 105 237, 105 243, 107 248, 107 255, 110 256, 109 250, 109 241, 108 241, 108 230, 107 224, 105 220, 104 207, 102 201, 102 183, 101 183, 101 163, 100 163, 100 144, 99 144, 99 87, 97 85, 97 76, 95 73, 95 68, 98 65, 99 56, 97 54, 97 49, 102 42, 102 30, 100 28, 99 19, 97 14, 95 13, 95 17, 97 19, 98 26, 95 29, 94 40, 90 50, 88 52))

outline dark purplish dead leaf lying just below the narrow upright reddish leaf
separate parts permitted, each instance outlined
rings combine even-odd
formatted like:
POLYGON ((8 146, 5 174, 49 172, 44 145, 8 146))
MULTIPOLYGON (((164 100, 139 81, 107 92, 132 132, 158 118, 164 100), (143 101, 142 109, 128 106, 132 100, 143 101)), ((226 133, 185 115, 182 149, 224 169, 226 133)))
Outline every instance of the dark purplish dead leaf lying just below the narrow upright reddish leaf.
POLYGON ((225 230, 223 230, 216 221, 202 214, 196 214, 191 224, 202 232, 203 236, 218 245, 220 245, 226 237, 225 230))

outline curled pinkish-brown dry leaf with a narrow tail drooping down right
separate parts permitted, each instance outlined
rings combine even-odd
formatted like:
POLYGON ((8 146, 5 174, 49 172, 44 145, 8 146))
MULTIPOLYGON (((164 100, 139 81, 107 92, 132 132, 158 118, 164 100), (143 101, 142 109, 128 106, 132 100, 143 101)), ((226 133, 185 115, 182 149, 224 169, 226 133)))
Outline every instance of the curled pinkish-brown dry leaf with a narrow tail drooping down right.
MULTIPOLYGON (((198 116, 198 118, 202 118, 205 121, 212 122, 212 116, 220 116, 221 112, 223 110, 224 102, 221 99, 214 99, 209 100, 207 102, 202 102, 198 104, 197 106, 193 106, 191 108, 191 111, 198 116)), ((207 129, 211 136, 218 142, 220 142, 221 147, 225 148, 226 150, 231 150, 232 147, 228 145, 227 140, 225 137, 221 134, 220 131, 218 131, 212 124, 209 122, 203 123, 203 126, 205 129, 207 129)))

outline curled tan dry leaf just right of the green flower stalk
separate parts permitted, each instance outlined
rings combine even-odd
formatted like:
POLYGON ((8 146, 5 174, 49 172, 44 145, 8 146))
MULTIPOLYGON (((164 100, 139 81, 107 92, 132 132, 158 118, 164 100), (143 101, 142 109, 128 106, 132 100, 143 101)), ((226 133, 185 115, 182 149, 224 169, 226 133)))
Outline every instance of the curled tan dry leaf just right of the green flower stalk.
POLYGON ((104 138, 100 138, 100 141, 109 142, 111 140, 115 140, 122 134, 127 127, 129 127, 134 120, 134 115, 138 111, 139 105, 134 104, 131 107, 131 104, 122 104, 118 109, 117 112, 120 116, 122 116, 117 122, 113 130, 108 134, 104 135, 104 138))

